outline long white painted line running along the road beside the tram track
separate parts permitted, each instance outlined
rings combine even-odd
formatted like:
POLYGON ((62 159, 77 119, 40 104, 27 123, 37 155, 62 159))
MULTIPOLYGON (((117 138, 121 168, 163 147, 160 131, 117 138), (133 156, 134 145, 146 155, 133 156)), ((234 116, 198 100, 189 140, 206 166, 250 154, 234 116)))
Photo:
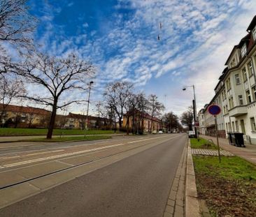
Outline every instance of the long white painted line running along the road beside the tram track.
MULTIPOLYGON (((166 135, 164 137, 169 137, 169 135, 166 135)), ((170 139, 173 139, 175 137, 178 137, 178 136, 171 137, 170 139)), ((163 138, 163 137, 161 137, 161 138, 163 138)), ((159 137, 145 139, 145 140, 136 140, 136 141, 127 142, 127 143, 143 142, 143 141, 146 141, 146 140, 156 140, 156 139, 159 139, 159 137)), ((87 150, 83 150, 83 151, 75 151, 75 152, 71 152, 71 153, 59 154, 59 155, 56 155, 56 156, 49 156, 49 157, 45 157, 45 158, 24 160, 24 161, 17 162, 17 163, 10 163, 10 164, 6 164, 6 165, 2 165, 2 166, 0 166, 0 169, 1 168, 7 168, 7 167, 15 167, 15 166, 24 165, 24 164, 27 164, 27 163, 35 163, 35 162, 43 161, 43 160, 51 160, 51 159, 55 159, 55 158, 62 158, 62 157, 66 157, 66 156, 76 155, 76 154, 85 154, 85 153, 91 152, 91 151, 99 151, 99 150, 102 150, 102 149, 119 147, 119 146, 125 145, 127 143, 113 144, 113 145, 109 145, 109 146, 106 146, 106 147, 99 147, 99 148, 95 148, 95 149, 87 149, 87 150)))

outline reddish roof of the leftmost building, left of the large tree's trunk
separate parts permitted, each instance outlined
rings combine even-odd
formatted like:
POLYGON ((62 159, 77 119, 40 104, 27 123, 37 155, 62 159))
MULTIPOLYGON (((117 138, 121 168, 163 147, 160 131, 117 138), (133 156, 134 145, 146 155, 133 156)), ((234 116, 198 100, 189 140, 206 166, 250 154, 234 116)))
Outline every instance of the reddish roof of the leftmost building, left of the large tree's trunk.
MULTIPOLYGON (((3 109, 4 104, 0 104, 0 110, 3 109)), ((7 112, 21 112, 21 113, 32 113, 32 114, 41 114, 47 115, 51 112, 44 110, 38 107, 29 107, 29 106, 20 106, 20 105, 6 105, 7 112)))

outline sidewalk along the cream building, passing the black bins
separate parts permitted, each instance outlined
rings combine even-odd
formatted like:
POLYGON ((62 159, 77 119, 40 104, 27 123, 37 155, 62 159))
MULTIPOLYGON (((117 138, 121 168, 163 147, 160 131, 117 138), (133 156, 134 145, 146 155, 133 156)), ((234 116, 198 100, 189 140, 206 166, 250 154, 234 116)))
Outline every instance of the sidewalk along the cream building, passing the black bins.
MULTIPOLYGON (((216 137, 211 137, 207 135, 200 135, 200 137, 206 140, 211 139, 215 144, 217 144, 216 137)), ((256 165, 256 145, 255 144, 246 144, 245 148, 235 147, 229 144, 229 141, 227 139, 223 139, 223 138, 219 138, 219 144, 222 149, 225 149, 226 151, 229 151, 230 153, 236 156, 239 156, 241 158, 244 158, 256 165)))

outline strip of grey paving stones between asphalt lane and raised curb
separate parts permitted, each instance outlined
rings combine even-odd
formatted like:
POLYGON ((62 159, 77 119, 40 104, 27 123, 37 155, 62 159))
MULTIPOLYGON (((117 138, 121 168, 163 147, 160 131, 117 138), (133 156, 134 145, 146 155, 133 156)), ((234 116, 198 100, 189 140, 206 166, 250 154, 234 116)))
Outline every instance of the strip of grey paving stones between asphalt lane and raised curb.
POLYGON ((187 144, 183 149, 180 163, 175 178, 171 184, 171 190, 166 203, 163 217, 184 217, 185 216, 185 179, 187 168, 187 144))

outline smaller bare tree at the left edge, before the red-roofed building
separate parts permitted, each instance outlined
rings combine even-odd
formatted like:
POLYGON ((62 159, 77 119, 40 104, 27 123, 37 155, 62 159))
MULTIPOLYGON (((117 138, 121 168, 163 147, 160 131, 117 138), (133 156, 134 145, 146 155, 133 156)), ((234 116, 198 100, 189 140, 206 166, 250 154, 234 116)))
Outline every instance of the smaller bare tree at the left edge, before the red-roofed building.
POLYGON ((6 107, 17 99, 20 94, 26 93, 24 89, 24 84, 17 80, 16 77, 8 77, 7 75, 0 75, 0 102, 1 102, 1 112, 0 121, 3 124, 3 114, 6 112, 6 107))

